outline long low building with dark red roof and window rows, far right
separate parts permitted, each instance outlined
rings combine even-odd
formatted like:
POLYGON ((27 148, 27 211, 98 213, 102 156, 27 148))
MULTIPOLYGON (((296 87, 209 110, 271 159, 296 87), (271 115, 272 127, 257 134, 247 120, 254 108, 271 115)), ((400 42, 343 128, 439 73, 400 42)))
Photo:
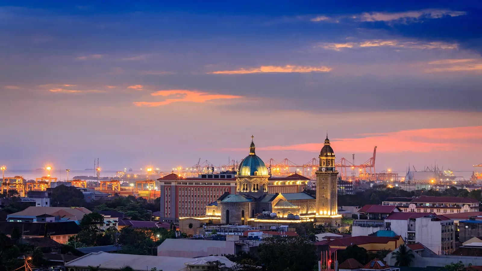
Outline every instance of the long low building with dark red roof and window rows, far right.
POLYGON ((478 212, 479 201, 462 197, 388 198, 382 205, 398 206, 403 212, 436 213, 438 215, 478 212))

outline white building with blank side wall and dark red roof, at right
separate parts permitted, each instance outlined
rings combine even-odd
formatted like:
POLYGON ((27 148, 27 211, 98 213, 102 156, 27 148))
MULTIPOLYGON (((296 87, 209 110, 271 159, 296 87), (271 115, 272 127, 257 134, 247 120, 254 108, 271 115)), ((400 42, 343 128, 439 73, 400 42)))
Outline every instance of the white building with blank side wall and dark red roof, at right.
POLYGON ((402 236, 407 244, 420 243, 437 254, 455 250, 454 220, 427 213, 392 213, 385 227, 402 236))

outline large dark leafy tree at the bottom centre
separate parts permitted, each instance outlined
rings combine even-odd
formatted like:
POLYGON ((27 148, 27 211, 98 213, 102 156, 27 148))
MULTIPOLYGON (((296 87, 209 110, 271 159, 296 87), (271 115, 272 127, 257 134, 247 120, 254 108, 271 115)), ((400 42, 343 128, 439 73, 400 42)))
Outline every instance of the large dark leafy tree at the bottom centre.
POLYGON ((267 271, 312 270, 316 265, 316 247, 305 237, 270 237, 258 246, 258 255, 267 271))

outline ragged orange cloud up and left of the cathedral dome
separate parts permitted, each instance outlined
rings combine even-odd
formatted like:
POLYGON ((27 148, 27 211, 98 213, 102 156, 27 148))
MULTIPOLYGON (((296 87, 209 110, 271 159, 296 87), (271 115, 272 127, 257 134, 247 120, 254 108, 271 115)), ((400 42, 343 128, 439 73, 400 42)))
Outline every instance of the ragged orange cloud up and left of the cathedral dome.
POLYGON ((147 106, 147 107, 157 107, 164 106, 176 102, 194 102, 194 103, 205 103, 210 102, 215 99, 237 99, 242 98, 242 96, 236 95, 222 95, 222 94, 209 94, 206 92, 200 92, 197 90, 187 90, 187 89, 172 89, 172 90, 161 90, 151 94, 152 96, 163 96, 166 97, 164 101, 159 102, 134 102, 136 106, 147 106))

